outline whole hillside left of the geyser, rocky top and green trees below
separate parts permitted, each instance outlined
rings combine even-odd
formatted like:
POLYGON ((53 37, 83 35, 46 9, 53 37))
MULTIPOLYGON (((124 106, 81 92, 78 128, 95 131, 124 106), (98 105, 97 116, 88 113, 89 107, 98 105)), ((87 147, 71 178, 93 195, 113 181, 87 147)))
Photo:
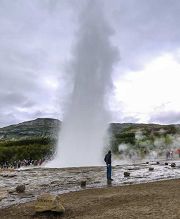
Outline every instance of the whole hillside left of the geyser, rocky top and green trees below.
POLYGON ((51 157, 60 127, 57 119, 38 118, 0 128, 0 163, 51 157))

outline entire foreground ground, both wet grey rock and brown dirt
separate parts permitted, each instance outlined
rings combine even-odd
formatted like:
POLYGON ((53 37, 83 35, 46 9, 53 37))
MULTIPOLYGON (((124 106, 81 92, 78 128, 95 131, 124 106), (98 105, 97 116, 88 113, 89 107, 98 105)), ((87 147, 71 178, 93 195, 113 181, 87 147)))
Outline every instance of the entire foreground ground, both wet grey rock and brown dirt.
POLYGON ((113 165, 111 185, 107 184, 103 166, 1 171, 0 218, 178 219, 180 162, 164 162, 113 165), (171 166, 172 162, 176 167, 171 166), (130 176, 126 177, 125 172, 130 176), (82 180, 87 182, 86 187, 81 187, 82 180), (22 185, 25 191, 19 193, 17 188, 22 185), (35 200, 45 193, 58 195, 65 207, 62 217, 47 212, 35 214, 35 200))

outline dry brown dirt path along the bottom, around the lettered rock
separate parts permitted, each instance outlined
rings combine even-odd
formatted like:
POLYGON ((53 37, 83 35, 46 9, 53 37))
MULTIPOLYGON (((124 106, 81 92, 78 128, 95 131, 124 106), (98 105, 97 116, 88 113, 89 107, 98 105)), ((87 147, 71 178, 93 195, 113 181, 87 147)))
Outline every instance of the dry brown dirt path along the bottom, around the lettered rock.
POLYGON ((63 216, 35 215, 34 203, 0 210, 1 219, 180 219, 180 180, 87 189, 61 195, 63 216))

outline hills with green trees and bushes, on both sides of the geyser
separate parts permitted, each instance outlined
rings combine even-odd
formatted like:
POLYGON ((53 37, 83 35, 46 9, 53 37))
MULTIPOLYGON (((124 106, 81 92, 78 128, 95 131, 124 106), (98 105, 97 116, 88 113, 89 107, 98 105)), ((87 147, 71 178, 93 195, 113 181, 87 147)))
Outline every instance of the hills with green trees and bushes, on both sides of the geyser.
MULTIPOLYGON (((61 121, 51 118, 0 128, 0 163, 51 157, 60 128, 61 121)), ((163 155, 167 150, 180 148, 180 125, 111 123, 108 135, 113 153, 125 157, 142 158, 152 151, 163 155)))

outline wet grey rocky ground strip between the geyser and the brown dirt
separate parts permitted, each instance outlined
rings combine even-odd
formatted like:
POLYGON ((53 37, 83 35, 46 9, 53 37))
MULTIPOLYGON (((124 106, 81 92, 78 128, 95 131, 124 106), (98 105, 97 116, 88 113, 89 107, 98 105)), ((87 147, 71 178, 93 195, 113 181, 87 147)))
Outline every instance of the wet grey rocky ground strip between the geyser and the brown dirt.
MULTIPOLYGON (((113 186, 180 178, 180 161, 156 161, 113 166, 113 186), (176 163, 176 167, 171 167, 176 163), (149 168, 154 170, 150 171, 149 168), (129 172, 130 177, 124 177, 129 172)), ((35 200, 39 194, 61 194, 82 190, 80 182, 86 180, 86 188, 106 187, 106 167, 81 168, 29 168, 0 171, 0 207, 35 200), (25 193, 15 191, 17 185, 25 184, 25 193)))

